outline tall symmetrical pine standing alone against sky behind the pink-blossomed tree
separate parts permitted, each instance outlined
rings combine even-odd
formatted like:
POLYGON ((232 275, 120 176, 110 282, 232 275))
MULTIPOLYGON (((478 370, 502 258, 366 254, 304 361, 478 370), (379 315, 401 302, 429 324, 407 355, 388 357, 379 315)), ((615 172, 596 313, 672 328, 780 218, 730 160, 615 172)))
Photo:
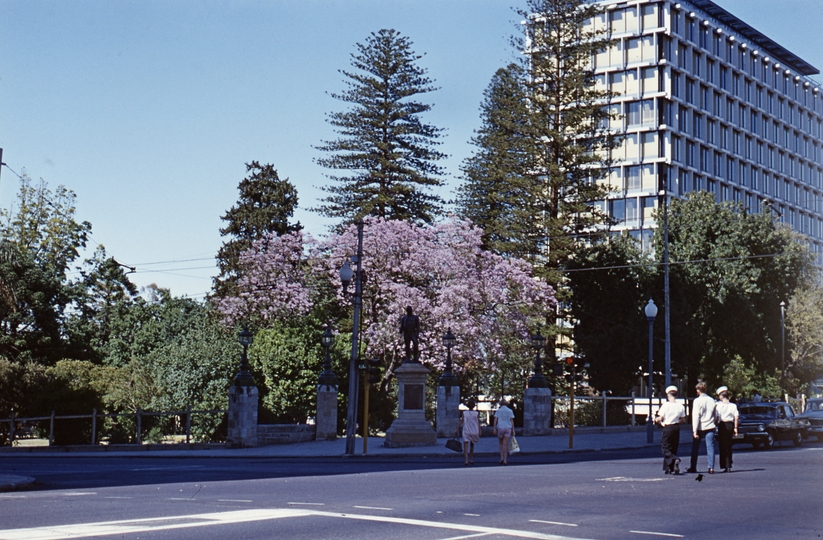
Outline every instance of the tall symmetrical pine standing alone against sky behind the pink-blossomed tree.
POLYGON ((348 89, 331 94, 351 108, 328 115, 340 138, 319 146, 329 157, 316 160, 350 174, 329 175, 333 184, 322 188, 328 196, 317 210, 344 225, 366 215, 430 223, 441 212, 430 190, 442 185, 437 162, 445 155, 435 149, 442 130, 421 119, 431 105, 415 98, 436 88, 411 41, 395 30, 356 46, 356 71, 341 71, 348 89))

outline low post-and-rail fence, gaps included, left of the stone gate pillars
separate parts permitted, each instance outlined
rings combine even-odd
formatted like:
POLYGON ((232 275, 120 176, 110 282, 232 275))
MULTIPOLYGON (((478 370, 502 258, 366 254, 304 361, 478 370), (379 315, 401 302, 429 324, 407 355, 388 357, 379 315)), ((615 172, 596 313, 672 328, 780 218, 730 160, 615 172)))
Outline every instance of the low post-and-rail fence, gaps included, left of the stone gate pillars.
MULTIPOLYGON (((228 410, 144 411, 134 413, 102 413, 92 409, 91 414, 0 418, 0 445, 12 446, 21 439, 47 439, 49 446, 62 444, 131 444, 144 442, 185 443, 192 440, 192 419, 197 415, 209 415, 212 426, 225 424, 228 410), (158 419, 165 421, 158 422, 158 419), (62 428, 62 429, 61 429, 62 428), (60 434, 70 433, 59 436, 60 434)), ((217 430, 218 433, 221 430, 217 430)), ((218 441, 206 441, 218 442, 218 441)))

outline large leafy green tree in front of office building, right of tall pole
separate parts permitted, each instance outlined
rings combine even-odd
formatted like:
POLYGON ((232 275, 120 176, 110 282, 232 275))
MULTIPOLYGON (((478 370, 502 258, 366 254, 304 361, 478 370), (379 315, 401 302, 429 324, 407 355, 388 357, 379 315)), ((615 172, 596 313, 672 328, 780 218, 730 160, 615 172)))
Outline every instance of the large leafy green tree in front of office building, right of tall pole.
POLYGON ((669 258, 672 369, 710 383, 721 382, 735 356, 758 373, 779 370, 780 301, 813 275, 797 233, 768 210, 751 214, 698 192, 671 202, 669 258))

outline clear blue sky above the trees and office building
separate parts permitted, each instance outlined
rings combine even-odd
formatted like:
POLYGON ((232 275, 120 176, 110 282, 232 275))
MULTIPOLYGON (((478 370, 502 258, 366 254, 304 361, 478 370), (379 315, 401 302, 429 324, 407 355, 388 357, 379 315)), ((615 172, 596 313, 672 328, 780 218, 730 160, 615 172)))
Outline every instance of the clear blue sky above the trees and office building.
MULTIPOLYGON (((823 69, 823 0, 715 0, 823 69)), ((334 137, 354 44, 394 28, 425 54, 440 90, 426 121, 445 128, 450 198, 483 90, 514 58, 522 0, 0 0, 3 161, 77 194, 92 247, 137 267, 138 286, 202 297, 222 244, 220 216, 245 163, 272 163, 297 187, 306 229, 334 137)), ((817 77, 817 80, 823 80, 817 77)), ((0 206, 19 188, 5 167, 0 206)))

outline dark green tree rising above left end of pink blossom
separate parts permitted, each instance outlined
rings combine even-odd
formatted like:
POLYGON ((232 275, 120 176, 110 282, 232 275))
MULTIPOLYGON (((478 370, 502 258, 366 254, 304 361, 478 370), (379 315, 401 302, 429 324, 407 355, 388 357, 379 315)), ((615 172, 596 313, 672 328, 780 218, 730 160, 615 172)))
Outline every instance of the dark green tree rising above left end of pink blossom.
POLYGON ((297 190, 288 179, 281 180, 273 165, 257 161, 247 163, 246 172, 249 175, 238 186, 240 199, 221 218, 226 226, 220 234, 229 240, 217 252, 220 273, 214 278, 214 292, 219 298, 235 290, 240 253, 255 240, 303 228, 299 222, 290 222, 297 208, 297 190))

